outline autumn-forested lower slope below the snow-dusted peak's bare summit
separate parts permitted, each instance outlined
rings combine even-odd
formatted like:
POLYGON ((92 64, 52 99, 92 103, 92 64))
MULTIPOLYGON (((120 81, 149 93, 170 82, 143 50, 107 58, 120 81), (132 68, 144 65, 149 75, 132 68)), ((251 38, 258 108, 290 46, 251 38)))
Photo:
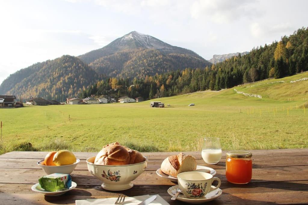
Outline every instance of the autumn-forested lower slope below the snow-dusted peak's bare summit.
POLYGON ((205 68, 204 59, 187 54, 164 54, 157 49, 127 49, 102 57, 89 64, 97 73, 109 77, 137 77, 166 73, 185 68, 205 68))

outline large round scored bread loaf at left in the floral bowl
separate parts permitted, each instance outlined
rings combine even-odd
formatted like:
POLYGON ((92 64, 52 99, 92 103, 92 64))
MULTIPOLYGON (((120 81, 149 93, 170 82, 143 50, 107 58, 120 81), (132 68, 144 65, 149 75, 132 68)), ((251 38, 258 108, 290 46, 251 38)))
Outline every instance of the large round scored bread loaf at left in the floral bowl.
POLYGON ((128 151, 120 144, 108 144, 96 155, 94 164, 126 165, 130 162, 128 151))

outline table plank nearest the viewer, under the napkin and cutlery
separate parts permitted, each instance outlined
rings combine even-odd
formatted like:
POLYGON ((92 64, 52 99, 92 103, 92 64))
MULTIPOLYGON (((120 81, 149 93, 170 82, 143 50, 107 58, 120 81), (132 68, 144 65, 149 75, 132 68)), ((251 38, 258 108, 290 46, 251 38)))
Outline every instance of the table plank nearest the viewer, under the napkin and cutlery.
MULTIPOLYGON (((83 190, 82 190, 83 191, 83 190)), ((156 192, 157 193, 157 192, 156 192)), ((150 193, 145 193, 150 194, 150 193)), ((160 194, 160 192, 158 192, 160 194)), ((140 194, 139 194, 140 195, 140 194)), ((113 195, 117 197, 118 194, 113 195)), ((133 196, 128 194, 128 196, 133 196)), ((170 200, 170 196, 165 193, 160 194, 171 205, 187 204, 180 201, 170 200)), ((44 196, 42 194, 0 194, 0 201, 3 204, 75 204, 75 200, 80 199, 99 199, 106 198, 103 195, 69 195, 64 194, 61 196, 44 196)), ((298 194, 298 191, 280 191, 280 192, 266 192, 262 195, 260 193, 251 194, 222 194, 218 199, 209 202, 207 204, 251 204, 251 205, 263 205, 263 204, 306 204, 308 203, 308 192, 303 191, 298 194)))

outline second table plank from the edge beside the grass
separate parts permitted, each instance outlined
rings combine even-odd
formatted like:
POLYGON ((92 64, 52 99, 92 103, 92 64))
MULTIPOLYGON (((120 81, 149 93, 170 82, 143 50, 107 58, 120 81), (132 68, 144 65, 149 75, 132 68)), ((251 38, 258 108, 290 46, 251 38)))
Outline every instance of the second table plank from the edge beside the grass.
MULTIPOLYGON (((301 166, 308 165, 307 156, 254 156, 253 167, 281 167, 281 166, 301 166)), ((11 159, 0 158, 0 168, 21 168, 21 169, 40 169, 37 165, 38 159, 11 159)), ((149 171, 160 168, 163 160, 149 160, 149 171)), ((225 169, 225 159, 221 159, 218 164, 206 164, 202 159, 197 159, 197 164, 213 169, 225 169)), ((75 170, 88 170, 86 160, 80 160, 75 170)))

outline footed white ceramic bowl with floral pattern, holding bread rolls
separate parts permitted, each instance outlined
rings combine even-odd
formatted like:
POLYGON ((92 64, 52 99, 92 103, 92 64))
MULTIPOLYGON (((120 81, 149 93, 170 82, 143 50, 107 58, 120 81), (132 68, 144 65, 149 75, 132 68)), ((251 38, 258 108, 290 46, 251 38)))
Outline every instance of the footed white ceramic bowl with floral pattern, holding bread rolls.
POLYGON ((148 159, 144 162, 128 165, 98 165, 94 164, 96 156, 87 159, 88 170, 92 175, 101 180, 102 188, 109 191, 122 191, 134 186, 132 183, 148 165, 148 159))

